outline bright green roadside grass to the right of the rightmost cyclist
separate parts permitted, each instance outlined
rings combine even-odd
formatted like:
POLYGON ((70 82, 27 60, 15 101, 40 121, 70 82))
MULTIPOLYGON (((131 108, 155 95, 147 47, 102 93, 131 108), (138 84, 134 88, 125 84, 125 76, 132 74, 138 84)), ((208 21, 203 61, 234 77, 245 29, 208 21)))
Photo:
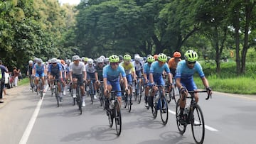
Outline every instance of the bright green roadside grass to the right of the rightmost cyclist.
MULTIPOLYGON (((196 85, 199 89, 204 89, 202 80, 195 77, 196 85)), ((227 92, 233 94, 256 94, 255 80, 250 77, 217 78, 216 76, 207 77, 213 91, 227 92)))

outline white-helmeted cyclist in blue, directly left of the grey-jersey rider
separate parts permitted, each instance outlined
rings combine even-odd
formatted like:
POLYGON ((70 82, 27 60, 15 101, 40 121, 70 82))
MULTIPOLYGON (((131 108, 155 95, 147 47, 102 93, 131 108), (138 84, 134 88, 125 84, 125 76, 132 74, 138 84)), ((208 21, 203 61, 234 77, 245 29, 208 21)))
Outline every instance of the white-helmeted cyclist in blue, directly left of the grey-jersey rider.
POLYGON ((53 89, 53 79, 57 79, 58 91, 60 96, 60 102, 63 102, 63 94, 61 92, 60 81, 63 81, 62 65, 56 58, 50 60, 51 65, 49 66, 48 75, 50 79, 50 89, 53 89))

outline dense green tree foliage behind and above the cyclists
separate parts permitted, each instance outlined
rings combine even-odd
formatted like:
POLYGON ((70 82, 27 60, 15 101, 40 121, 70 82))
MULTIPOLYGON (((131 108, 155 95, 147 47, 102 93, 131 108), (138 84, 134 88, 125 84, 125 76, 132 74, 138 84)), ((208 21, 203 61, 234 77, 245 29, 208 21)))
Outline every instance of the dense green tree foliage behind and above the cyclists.
POLYGON ((246 72, 255 48, 254 0, 58 0, 0 1, 0 57, 5 65, 26 67, 41 57, 100 55, 172 55, 196 50, 214 60, 235 60, 235 73, 246 72), (234 55, 230 57, 230 51, 234 55))

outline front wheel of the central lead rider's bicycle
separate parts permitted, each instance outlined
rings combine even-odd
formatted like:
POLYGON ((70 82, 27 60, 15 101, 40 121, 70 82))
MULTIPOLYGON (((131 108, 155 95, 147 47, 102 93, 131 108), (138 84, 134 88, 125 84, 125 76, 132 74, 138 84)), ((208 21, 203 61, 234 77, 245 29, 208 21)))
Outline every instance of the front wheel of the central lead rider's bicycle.
POLYGON ((122 117, 121 117, 121 109, 118 101, 114 103, 114 120, 117 130, 117 135, 119 136, 122 131, 122 117))

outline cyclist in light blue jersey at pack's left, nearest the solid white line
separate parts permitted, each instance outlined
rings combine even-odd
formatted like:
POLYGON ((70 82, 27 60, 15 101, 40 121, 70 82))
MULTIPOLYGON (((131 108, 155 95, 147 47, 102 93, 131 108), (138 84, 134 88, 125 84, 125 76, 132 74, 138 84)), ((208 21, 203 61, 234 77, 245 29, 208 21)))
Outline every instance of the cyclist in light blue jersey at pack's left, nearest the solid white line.
POLYGON ((43 60, 42 59, 38 59, 37 60, 37 63, 34 65, 33 67, 33 76, 36 77, 36 88, 35 88, 35 91, 37 92, 38 90, 38 81, 39 81, 39 78, 42 79, 42 82, 43 82, 43 93, 46 92, 46 89, 45 89, 45 75, 46 75, 46 67, 45 65, 42 64, 43 63, 43 60))

